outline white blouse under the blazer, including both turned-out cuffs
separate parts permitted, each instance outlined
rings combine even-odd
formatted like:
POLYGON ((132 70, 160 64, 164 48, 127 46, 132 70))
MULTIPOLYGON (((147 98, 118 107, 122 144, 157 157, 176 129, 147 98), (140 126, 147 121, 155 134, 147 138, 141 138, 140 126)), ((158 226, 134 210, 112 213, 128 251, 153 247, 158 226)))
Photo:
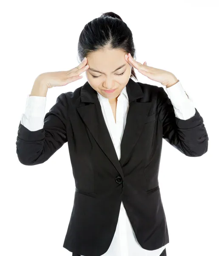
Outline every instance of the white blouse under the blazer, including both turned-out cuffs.
MULTIPOLYGON (((186 120, 195 115, 196 110, 193 106, 193 101, 191 97, 188 96, 188 93, 185 93, 183 90, 180 81, 165 89, 173 105, 176 117, 186 120)), ((97 96, 117 157, 120 159, 120 143, 129 108, 126 86, 117 99, 116 122, 108 99, 98 92, 97 96)), ((21 124, 30 131, 42 129, 44 125, 45 107, 46 97, 29 96, 28 94, 25 113, 21 116, 21 124)), ((102 254, 102 256, 159 256, 165 247, 164 245, 156 250, 143 249, 136 239, 124 205, 121 203, 119 219, 113 240, 107 252, 102 254)))

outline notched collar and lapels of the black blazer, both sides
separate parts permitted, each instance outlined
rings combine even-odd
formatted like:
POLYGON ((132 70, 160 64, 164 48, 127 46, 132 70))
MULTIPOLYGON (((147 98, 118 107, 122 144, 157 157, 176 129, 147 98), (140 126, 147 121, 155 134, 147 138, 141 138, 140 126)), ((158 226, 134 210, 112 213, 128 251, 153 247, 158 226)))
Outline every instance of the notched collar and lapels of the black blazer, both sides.
POLYGON ((80 92, 81 105, 77 111, 87 125, 94 139, 106 154, 111 163, 115 166, 122 179, 124 174, 122 166, 128 159, 129 154, 137 143, 143 125, 151 108, 151 102, 137 102, 136 99, 142 98, 144 93, 141 87, 131 78, 126 85, 129 100, 129 110, 126 119, 125 130, 121 141, 121 157, 118 160, 113 142, 111 140, 107 125, 102 114, 101 105, 97 92, 86 82, 80 92), (92 103, 92 104, 85 104, 92 103))

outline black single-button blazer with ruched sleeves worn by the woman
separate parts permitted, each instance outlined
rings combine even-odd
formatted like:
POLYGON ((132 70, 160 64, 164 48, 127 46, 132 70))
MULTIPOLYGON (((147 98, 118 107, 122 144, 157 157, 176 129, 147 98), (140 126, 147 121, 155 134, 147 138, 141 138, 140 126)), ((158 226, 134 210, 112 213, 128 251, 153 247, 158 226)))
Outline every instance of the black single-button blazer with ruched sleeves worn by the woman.
POLYGON ((75 180, 74 205, 63 247, 80 255, 99 256, 113 239, 121 201, 142 248, 169 242, 158 172, 162 139, 188 157, 208 150, 202 116, 175 116, 163 87, 126 85, 129 110, 118 160, 102 115, 97 92, 86 82, 62 93, 46 113, 44 127, 29 131, 21 123, 17 156, 28 166, 44 163, 68 142, 75 180))

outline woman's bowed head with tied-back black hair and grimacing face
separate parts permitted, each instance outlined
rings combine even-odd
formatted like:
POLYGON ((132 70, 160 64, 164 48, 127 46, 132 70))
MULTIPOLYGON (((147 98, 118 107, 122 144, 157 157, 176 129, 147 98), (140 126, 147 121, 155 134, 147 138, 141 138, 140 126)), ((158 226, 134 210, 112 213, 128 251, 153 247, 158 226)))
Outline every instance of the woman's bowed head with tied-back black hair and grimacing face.
POLYGON ((90 21, 82 30, 78 42, 80 61, 87 58, 85 71, 88 83, 110 102, 116 101, 130 77, 137 79, 125 54, 135 57, 131 30, 119 15, 106 12, 90 21), (113 90, 107 93, 104 90, 113 90))

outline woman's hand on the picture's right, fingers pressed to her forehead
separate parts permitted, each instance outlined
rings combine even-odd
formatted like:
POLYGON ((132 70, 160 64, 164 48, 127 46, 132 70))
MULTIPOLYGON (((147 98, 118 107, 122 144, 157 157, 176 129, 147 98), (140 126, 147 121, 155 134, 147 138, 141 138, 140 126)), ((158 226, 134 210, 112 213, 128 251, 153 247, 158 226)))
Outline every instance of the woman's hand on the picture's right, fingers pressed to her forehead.
POLYGON ((136 68, 142 75, 147 76, 149 79, 156 82, 160 82, 166 87, 171 87, 173 84, 176 84, 179 81, 171 72, 155 67, 149 67, 147 66, 146 61, 144 64, 141 64, 140 62, 134 60, 130 53, 128 53, 128 55, 125 54, 125 60, 131 64, 132 67, 136 68))

